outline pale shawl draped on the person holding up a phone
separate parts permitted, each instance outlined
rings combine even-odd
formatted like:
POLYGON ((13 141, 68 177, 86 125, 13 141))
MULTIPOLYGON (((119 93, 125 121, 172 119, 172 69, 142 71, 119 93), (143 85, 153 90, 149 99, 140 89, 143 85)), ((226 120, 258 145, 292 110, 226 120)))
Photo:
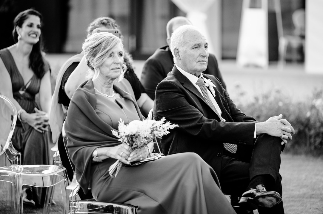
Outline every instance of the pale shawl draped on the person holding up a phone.
POLYGON ((52 131, 52 139, 54 143, 56 143, 59 135, 62 133, 62 126, 66 113, 65 107, 58 103, 58 91, 61 86, 62 78, 68 67, 74 62, 80 62, 83 55, 84 54, 79 53, 66 60, 57 74, 55 90, 52 96, 52 106, 49 114, 49 125, 52 131))

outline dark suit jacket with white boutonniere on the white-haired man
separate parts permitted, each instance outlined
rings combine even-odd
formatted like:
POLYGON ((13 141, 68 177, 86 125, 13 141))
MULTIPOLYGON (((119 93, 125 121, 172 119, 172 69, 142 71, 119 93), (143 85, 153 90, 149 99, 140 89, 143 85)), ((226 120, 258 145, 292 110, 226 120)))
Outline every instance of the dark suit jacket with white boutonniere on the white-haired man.
POLYGON ((195 152, 220 178, 223 143, 237 144, 237 154, 252 150, 256 121, 234 105, 217 78, 206 74, 203 77, 211 79, 216 86, 215 100, 226 122, 220 122, 200 92, 175 66, 156 88, 153 113, 155 119, 165 117, 179 125, 163 136, 164 154, 195 152))

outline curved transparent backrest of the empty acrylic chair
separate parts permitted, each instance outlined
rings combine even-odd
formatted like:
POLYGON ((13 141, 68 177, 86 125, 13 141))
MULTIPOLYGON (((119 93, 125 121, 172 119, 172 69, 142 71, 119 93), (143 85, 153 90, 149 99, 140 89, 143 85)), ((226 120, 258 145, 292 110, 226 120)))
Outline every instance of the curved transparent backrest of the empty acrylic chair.
POLYGON ((20 160, 18 153, 11 142, 11 137, 17 121, 17 110, 13 102, 0 94, 0 155, 6 153, 12 164, 20 160))

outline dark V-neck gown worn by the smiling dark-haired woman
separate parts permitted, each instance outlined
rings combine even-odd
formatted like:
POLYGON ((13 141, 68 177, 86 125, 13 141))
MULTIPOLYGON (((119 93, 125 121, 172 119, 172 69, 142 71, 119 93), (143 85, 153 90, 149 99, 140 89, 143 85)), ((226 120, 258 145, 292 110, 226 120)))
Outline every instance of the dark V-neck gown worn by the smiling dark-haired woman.
MULTIPOLYGON (((34 108, 40 109, 36 103, 35 95, 39 92, 41 79, 34 74, 32 78, 24 84, 16 63, 8 49, 0 51, 0 57, 8 70, 12 83, 13 96, 19 105, 27 113, 35 113, 34 108)), ((49 65, 45 68, 49 70, 49 65)), ((49 164, 49 133, 39 133, 27 123, 21 123, 17 119, 16 128, 12 136, 12 144, 20 152, 23 165, 29 164, 49 164)), ((45 188, 32 187, 33 200, 36 206, 43 206, 45 200, 45 188)))

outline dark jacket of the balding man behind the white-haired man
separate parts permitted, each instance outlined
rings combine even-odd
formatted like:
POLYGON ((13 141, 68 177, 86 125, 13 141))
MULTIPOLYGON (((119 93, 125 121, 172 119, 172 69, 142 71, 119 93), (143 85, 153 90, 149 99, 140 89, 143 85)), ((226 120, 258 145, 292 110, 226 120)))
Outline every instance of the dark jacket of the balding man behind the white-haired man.
MULTIPOLYGON (((218 68, 218 61, 213 54, 209 54, 207 63, 207 68, 203 71, 203 74, 214 75, 220 80, 223 88, 226 89, 218 68)), ((158 48, 155 53, 146 60, 141 73, 141 83, 152 100, 155 99, 155 90, 158 83, 172 71, 173 66, 173 56, 168 45, 158 48)))

